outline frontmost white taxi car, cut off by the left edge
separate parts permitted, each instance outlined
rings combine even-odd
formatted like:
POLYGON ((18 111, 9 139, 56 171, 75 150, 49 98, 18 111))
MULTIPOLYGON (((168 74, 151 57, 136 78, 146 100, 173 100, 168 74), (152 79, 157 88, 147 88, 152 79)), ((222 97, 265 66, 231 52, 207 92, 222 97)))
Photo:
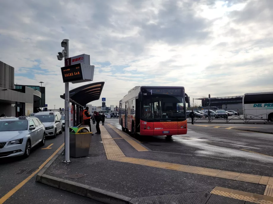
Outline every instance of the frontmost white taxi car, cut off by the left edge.
POLYGON ((35 145, 45 145, 45 126, 36 117, 0 119, 0 158, 28 157, 35 145))

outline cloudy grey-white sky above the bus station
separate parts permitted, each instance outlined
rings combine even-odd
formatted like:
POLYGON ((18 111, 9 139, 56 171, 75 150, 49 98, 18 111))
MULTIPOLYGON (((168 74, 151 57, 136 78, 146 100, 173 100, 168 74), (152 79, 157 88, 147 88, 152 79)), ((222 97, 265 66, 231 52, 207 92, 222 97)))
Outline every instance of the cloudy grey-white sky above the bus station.
POLYGON ((90 55, 107 106, 136 85, 184 86, 191 98, 272 91, 272 23, 272 0, 1 1, 0 61, 15 83, 45 82, 50 109, 64 107, 63 39, 70 57, 90 55))

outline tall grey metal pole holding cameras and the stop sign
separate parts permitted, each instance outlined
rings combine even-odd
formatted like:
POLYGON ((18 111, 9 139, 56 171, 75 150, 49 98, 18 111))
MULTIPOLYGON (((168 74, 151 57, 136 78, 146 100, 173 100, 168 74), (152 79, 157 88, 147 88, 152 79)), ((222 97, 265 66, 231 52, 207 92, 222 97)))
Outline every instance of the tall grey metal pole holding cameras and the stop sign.
MULTIPOLYGON (((67 42, 66 47, 64 50, 66 51, 66 56, 64 56, 64 64, 65 59, 69 58, 69 40, 64 39, 67 42)), ((69 163, 71 160, 69 159, 69 82, 65 83, 65 99, 64 99, 64 119, 65 119, 65 125, 64 125, 64 131, 65 131, 65 160, 64 163, 69 163)))

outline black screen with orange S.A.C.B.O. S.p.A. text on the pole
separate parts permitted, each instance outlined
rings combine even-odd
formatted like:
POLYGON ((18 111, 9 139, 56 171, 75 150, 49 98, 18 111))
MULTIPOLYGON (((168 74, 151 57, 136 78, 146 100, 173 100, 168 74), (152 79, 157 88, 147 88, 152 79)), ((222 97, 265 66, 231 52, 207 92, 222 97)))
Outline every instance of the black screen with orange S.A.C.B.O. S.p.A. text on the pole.
POLYGON ((64 83, 83 79, 80 63, 61 67, 61 71, 64 83))

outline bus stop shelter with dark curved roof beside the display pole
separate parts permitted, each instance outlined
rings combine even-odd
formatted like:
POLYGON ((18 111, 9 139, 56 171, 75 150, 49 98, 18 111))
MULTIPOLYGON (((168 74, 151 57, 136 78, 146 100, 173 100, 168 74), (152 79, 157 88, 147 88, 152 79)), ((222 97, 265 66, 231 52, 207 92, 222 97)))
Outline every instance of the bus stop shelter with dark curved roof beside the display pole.
MULTIPOLYGON (((96 82, 69 91, 69 102, 74 106, 73 126, 78 126, 82 122, 82 115, 80 113, 83 108, 86 107, 87 103, 96 101, 100 98, 103 86, 104 82, 96 82), (77 117, 75 110, 77 110, 77 117)), ((65 94, 60 95, 60 97, 65 99, 65 94)))

